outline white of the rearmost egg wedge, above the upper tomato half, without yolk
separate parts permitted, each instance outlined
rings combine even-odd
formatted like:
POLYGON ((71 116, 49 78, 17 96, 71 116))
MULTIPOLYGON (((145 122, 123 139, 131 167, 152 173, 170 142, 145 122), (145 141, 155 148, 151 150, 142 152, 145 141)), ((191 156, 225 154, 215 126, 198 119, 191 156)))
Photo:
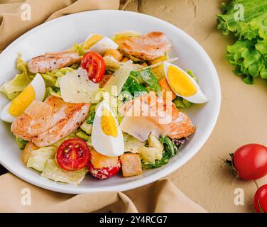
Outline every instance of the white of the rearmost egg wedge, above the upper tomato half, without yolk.
MULTIPOLYGON (((91 38, 92 35, 95 35, 95 33, 91 33, 87 37, 86 40, 91 38)), ((119 45, 116 44, 113 40, 111 40, 111 38, 108 38, 107 36, 103 36, 101 40, 99 40, 97 43, 92 45, 92 47, 90 47, 88 50, 85 50, 85 52, 94 51, 94 52, 98 52, 100 55, 104 55, 107 52, 107 50, 109 49, 116 50, 118 48, 119 48, 119 45)))

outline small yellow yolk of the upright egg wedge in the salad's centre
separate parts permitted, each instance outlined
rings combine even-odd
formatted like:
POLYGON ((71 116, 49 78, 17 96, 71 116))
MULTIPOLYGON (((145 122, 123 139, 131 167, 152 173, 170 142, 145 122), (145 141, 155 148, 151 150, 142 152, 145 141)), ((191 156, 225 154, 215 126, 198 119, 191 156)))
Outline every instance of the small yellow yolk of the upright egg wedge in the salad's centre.
POLYGON ((104 134, 111 135, 113 137, 118 136, 118 130, 116 121, 112 116, 111 112, 105 108, 101 116, 101 128, 104 134))

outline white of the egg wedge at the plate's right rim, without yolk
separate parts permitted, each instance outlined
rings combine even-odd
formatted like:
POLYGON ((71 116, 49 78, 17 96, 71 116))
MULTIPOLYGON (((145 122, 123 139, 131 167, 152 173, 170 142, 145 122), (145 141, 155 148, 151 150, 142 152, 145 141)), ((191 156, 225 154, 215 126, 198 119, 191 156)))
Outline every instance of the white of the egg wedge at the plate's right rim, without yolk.
MULTIPOLYGON (((165 77, 168 81, 168 67, 170 67, 170 65, 173 65, 169 62, 164 62, 163 63, 164 65, 164 74, 165 74, 165 77)), ((177 67, 179 70, 182 70, 180 67, 178 67, 177 65, 173 65, 174 67, 177 67)), ((180 96, 182 97, 183 99, 186 99, 187 101, 190 101, 194 104, 202 104, 202 103, 205 103, 207 102, 207 97, 205 96, 205 94, 202 92, 202 89, 200 88, 200 85, 197 84, 197 82, 195 81, 195 79, 193 79, 190 74, 188 74, 187 72, 185 72, 184 70, 182 70, 182 72, 184 72, 187 77, 190 79, 190 81, 192 82, 192 84, 194 84, 194 86, 196 87, 197 89, 197 92, 195 94, 193 94, 192 96, 181 96, 180 94, 176 93, 174 90, 173 92, 177 95, 177 96, 180 96)), ((168 81, 169 83, 169 81, 168 81)), ((169 83, 170 84, 170 83, 169 83)), ((170 86, 171 88, 171 86, 170 86)))

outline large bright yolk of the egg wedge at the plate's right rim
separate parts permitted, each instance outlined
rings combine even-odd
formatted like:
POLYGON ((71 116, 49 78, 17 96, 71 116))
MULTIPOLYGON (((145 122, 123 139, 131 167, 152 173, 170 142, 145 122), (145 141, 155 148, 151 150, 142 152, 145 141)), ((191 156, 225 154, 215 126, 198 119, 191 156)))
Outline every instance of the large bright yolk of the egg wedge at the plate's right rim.
POLYGON ((173 65, 168 67, 168 82, 173 91, 180 96, 192 96, 197 92, 195 84, 191 82, 187 74, 173 65))

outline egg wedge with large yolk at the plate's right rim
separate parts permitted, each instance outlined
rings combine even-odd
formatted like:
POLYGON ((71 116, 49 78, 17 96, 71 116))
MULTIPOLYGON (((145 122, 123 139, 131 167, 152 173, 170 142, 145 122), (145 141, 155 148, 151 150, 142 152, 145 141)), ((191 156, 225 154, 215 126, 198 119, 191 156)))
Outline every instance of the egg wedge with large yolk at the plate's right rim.
POLYGON ((169 62, 164 62, 163 64, 165 77, 176 95, 194 104, 207 102, 207 97, 200 89, 200 85, 190 74, 169 62))

